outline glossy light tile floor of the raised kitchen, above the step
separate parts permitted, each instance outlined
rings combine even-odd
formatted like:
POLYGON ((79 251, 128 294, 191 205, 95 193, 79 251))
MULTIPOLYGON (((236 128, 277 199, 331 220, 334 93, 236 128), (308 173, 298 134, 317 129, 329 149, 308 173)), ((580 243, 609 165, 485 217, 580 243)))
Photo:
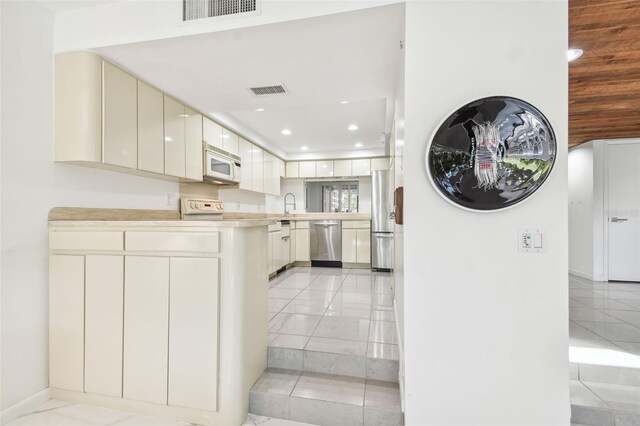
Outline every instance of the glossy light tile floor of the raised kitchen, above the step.
POLYGON ((389 273, 295 267, 269 286, 270 346, 398 359, 389 273))

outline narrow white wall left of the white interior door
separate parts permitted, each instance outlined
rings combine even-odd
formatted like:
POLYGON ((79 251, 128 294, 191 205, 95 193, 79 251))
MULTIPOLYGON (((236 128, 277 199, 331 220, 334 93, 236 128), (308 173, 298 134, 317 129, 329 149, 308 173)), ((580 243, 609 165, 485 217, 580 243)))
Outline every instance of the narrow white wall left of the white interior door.
POLYGON ((569 272, 593 279, 593 142, 569 151, 569 272))

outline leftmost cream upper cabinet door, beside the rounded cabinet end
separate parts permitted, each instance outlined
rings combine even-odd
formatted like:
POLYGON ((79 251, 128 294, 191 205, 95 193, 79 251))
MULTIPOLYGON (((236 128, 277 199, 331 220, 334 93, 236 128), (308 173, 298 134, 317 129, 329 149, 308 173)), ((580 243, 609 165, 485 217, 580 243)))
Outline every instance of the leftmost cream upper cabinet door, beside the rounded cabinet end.
POLYGON ((138 168, 138 82, 103 61, 103 158, 106 164, 138 168))

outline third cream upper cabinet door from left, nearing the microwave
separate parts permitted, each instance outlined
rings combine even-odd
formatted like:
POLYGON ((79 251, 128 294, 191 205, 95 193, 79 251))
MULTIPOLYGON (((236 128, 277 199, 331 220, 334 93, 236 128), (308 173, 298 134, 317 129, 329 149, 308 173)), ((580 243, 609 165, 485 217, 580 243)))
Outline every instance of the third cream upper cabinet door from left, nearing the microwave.
POLYGON ((164 97, 164 173, 185 177, 184 105, 164 97))

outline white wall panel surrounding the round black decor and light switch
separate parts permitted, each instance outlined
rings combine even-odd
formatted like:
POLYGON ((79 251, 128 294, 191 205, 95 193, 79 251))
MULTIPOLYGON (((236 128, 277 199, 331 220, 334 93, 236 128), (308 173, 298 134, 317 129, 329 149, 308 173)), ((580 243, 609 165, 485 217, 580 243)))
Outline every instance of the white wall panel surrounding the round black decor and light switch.
POLYGON ((405 395, 408 425, 568 425, 567 1, 406 5, 405 395), (457 107, 511 95, 558 139, 524 203, 472 213, 441 199, 429 138, 457 107), (517 230, 547 252, 518 253, 517 230))

